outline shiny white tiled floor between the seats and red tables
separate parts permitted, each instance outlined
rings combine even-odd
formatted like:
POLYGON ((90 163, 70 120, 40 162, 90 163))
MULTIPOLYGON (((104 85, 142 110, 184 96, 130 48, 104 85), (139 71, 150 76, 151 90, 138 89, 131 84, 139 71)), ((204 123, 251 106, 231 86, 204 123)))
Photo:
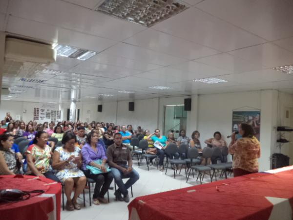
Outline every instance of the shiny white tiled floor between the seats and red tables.
MULTIPOLYGON (((133 168, 140 174, 140 179, 133 185, 133 198, 138 196, 144 196, 174 189, 185 188, 192 185, 198 185, 200 182, 195 181, 190 174, 188 183, 184 171, 181 175, 177 174, 176 179, 173 177, 173 170, 167 171, 167 175, 164 172, 160 172, 156 167, 151 166, 147 171, 146 164, 142 164, 140 168, 137 166, 137 162, 133 161, 133 168)), ((179 173, 179 172, 178 172, 179 173)), ((205 176, 203 183, 209 182, 209 177, 205 176)), ((113 182, 112 182, 113 186, 113 182)), ((94 187, 91 187, 93 190, 94 187)), ((130 195, 130 189, 129 189, 130 195)), ((83 203, 82 195, 79 198, 79 203, 83 203)), ((127 220, 128 219, 128 203, 122 201, 115 201, 114 190, 109 190, 110 203, 89 206, 88 190, 85 190, 86 207, 82 207, 77 211, 62 211, 62 220, 127 220)), ((130 201, 133 199, 130 197, 130 201)))

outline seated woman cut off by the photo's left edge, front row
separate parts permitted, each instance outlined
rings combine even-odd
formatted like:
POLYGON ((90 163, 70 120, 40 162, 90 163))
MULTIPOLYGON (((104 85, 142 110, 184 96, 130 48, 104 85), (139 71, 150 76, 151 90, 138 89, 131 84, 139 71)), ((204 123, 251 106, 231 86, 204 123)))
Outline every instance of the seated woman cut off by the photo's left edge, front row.
POLYGON ((16 154, 11 150, 14 138, 11 134, 0 135, 0 175, 19 173, 16 154))

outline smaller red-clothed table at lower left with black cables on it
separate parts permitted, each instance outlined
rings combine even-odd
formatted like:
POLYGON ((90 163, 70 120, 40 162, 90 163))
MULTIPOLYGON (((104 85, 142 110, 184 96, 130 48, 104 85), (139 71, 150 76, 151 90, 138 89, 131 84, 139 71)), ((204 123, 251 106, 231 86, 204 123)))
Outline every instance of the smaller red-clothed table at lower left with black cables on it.
POLYGON ((43 190, 32 193, 27 200, 0 202, 0 219, 3 220, 60 220, 61 184, 41 176, 0 176, 0 190, 43 190))

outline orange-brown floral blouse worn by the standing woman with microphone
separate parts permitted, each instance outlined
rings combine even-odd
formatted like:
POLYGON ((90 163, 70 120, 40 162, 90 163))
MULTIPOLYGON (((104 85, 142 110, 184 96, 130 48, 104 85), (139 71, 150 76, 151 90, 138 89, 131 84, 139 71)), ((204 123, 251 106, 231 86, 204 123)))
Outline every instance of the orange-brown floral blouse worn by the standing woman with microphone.
POLYGON ((260 143, 255 136, 238 139, 229 146, 229 153, 233 155, 233 169, 240 168, 248 172, 258 172, 260 157, 260 143))

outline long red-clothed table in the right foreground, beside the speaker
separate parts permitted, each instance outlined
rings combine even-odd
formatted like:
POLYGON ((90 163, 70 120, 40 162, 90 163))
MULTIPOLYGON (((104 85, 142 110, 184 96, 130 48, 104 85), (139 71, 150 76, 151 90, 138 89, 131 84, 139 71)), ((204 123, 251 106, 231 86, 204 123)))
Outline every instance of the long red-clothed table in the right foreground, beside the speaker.
POLYGON ((135 198, 129 220, 291 220, 293 166, 135 198))

